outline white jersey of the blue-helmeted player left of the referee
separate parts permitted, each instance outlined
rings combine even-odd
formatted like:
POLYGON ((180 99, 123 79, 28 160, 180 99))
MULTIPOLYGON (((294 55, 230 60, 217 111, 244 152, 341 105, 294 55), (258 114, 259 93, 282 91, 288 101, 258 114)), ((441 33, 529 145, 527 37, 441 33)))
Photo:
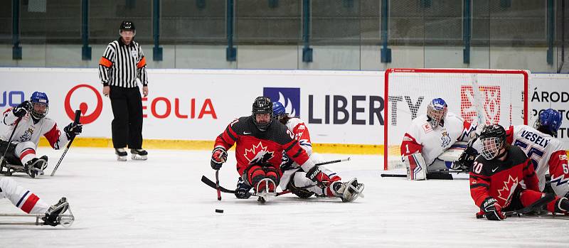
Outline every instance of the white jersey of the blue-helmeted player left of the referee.
MULTIPOLYGON (((9 128, 6 130, 6 133, 1 136, 2 140, 8 141, 8 139, 10 139, 10 135, 12 134, 12 131, 14 131, 16 122, 18 122, 18 117, 14 115, 12 109, 6 110, 3 114, 2 124, 9 126, 9 128)), ((11 142, 22 143, 30 141, 33 144, 36 144, 37 149, 41 136, 46 136, 46 139, 53 149, 60 149, 61 146, 65 145, 68 141, 65 132, 62 133, 58 129, 58 125, 53 119, 43 117, 39 122, 34 123, 30 113, 28 113, 19 119, 18 126, 14 132, 14 136, 12 136, 11 142)))

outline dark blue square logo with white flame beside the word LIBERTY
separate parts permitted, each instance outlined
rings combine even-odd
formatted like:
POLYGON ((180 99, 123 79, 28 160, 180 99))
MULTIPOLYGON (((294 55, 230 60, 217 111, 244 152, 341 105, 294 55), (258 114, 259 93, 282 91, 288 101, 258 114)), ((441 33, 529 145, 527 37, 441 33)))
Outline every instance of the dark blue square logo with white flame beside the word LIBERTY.
POLYGON ((300 88, 264 87, 262 95, 280 102, 290 116, 300 117, 300 88))

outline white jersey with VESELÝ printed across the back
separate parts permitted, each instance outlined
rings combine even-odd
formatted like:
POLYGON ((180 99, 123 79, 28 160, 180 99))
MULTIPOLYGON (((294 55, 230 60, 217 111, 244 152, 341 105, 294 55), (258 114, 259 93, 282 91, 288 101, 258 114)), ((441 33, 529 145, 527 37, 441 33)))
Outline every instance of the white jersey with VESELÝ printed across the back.
POLYGON ((561 141, 526 125, 510 126, 506 134, 506 141, 519 146, 531 159, 539 180, 539 190, 545 188, 546 173, 549 172, 551 188, 556 195, 563 196, 568 192, 569 168, 561 141))

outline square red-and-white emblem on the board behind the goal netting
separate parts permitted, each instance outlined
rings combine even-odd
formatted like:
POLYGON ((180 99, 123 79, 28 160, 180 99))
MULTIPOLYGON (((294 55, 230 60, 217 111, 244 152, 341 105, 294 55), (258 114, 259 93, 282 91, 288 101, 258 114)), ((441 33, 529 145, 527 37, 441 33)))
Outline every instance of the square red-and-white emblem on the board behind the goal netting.
POLYGON ((479 86, 482 99, 474 99, 471 85, 460 86, 460 116, 464 121, 473 123, 478 117, 477 104, 482 104, 482 114, 486 125, 500 122, 501 96, 499 86, 479 86))

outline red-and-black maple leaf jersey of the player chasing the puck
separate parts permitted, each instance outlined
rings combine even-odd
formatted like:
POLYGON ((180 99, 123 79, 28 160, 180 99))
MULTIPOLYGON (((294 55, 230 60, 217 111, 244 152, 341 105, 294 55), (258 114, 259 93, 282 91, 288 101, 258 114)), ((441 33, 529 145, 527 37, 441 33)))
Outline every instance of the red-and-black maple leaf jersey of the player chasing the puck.
POLYGON ((272 121, 266 131, 259 131, 250 116, 233 120, 218 136, 215 146, 230 149, 235 143, 239 175, 243 175, 245 168, 252 164, 262 164, 280 171, 282 151, 299 165, 309 160, 309 155, 294 139, 292 131, 276 120, 272 121))

